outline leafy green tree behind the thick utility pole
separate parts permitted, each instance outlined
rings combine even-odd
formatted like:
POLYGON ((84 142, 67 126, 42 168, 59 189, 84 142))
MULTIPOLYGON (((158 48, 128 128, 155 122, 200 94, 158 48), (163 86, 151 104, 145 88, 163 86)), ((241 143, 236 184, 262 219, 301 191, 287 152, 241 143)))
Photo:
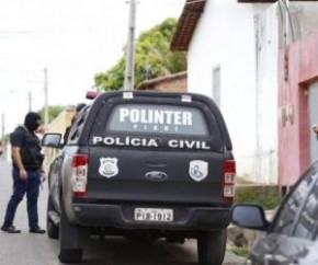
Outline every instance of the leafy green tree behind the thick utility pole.
MULTIPOLYGON (((167 19, 140 34, 135 45, 135 85, 145 79, 168 76, 186 70, 186 53, 171 51, 171 38, 177 27, 175 19, 167 19)), ((99 90, 121 90, 125 81, 126 58, 105 72, 96 73, 99 90)))

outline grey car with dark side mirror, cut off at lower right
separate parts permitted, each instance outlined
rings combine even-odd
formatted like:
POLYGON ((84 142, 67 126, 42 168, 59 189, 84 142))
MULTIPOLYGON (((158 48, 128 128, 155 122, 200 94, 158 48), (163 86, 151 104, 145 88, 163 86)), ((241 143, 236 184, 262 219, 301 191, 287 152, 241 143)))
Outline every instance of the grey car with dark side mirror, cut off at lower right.
POLYGON ((235 205, 231 222, 260 231, 247 265, 318 264, 318 161, 285 195, 271 221, 259 205, 235 205))

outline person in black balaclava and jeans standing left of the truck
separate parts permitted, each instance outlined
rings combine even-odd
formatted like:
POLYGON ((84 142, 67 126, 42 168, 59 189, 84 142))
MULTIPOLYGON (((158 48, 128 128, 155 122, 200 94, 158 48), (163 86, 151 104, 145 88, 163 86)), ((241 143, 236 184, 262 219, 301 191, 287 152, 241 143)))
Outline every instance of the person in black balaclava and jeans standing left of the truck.
POLYGON ((13 193, 8 203, 4 222, 1 227, 4 232, 21 232, 13 226, 13 220, 18 205, 26 193, 29 231, 31 233, 45 233, 45 230, 38 226, 37 215, 37 198, 41 176, 44 173, 42 168, 44 157, 41 153, 41 143, 35 131, 41 124, 41 116, 37 113, 30 112, 25 115, 24 125, 16 127, 10 136, 13 193))

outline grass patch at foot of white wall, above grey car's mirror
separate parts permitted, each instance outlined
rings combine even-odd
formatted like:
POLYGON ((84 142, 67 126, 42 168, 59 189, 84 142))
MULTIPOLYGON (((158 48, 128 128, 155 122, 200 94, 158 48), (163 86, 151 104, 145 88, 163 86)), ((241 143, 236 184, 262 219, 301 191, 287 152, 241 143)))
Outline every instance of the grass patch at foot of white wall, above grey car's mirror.
POLYGON ((281 201, 277 186, 238 186, 235 203, 248 203, 261 205, 264 209, 274 209, 281 201))

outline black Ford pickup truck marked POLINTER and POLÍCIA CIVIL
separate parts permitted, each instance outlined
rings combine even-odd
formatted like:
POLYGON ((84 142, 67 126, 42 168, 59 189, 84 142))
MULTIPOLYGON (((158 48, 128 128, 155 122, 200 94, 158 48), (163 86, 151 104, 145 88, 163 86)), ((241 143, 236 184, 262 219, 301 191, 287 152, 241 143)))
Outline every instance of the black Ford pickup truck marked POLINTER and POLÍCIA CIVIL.
POLYGON ((49 165, 47 234, 78 263, 90 234, 138 243, 196 239, 200 264, 222 264, 235 193, 230 137, 204 95, 105 92, 76 117, 49 165))

